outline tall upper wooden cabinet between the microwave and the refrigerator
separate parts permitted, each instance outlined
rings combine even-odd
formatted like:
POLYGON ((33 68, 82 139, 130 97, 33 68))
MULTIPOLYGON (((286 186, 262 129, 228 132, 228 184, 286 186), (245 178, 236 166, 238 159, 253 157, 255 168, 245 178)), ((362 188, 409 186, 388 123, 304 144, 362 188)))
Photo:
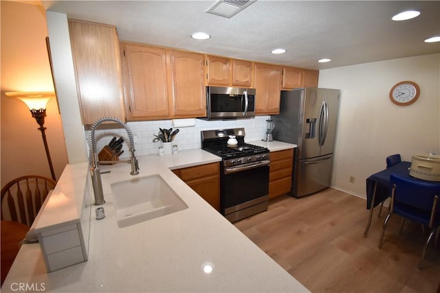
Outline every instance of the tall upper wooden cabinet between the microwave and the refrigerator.
POLYGON ((256 115, 280 113, 282 72, 279 65, 255 63, 256 115))

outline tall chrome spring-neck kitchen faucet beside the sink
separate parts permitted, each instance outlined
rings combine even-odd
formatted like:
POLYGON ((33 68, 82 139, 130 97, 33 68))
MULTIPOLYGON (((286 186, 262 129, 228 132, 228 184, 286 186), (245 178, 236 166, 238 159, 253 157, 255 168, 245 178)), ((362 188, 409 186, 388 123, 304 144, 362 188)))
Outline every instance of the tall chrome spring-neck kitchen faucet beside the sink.
POLYGON ((129 134, 130 140, 130 153, 131 157, 129 161, 118 161, 118 162, 129 162, 131 164, 131 175, 139 174, 139 165, 137 164, 137 159, 135 156, 135 144, 133 142, 133 134, 131 130, 124 122, 120 121, 120 119, 115 117, 102 117, 94 122, 90 128, 90 141, 91 141, 91 157, 89 158, 90 162, 90 174, 91 174, 91 184, 94 188, 94 196, 95 196, 95 205, 104 204, 104 191, 102 191, 102 180, 101 173, 99 169, 99 159, 98 159, 98 151, 96 150, 96 139, 95 139, 95 130, 96 128, 102 124, 102 122, 112 121, 120 124, 125 128, 127 134, 129 134))

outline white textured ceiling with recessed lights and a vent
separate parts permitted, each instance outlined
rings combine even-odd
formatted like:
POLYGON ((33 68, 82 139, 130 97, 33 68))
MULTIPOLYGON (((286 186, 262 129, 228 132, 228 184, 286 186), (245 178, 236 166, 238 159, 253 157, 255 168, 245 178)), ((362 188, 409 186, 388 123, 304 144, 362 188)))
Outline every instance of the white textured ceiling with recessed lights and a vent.
POLYGON ((41 1, 68 18, 115 25, 120 40, 309 69, 440 52, 439 42, 423 42, 440 35, 440 1, 257 0, 230 19, 206 13, 216 2, 41 1), (408 9, 421 15, 391 21, 408 9), (287 52, 270 54, 276 48, 287 52))

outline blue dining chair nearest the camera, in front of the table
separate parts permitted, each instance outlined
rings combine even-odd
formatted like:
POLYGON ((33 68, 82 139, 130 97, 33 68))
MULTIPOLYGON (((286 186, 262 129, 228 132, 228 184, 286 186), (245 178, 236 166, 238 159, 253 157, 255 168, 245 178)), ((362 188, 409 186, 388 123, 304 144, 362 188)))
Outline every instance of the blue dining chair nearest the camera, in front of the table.
MULTIPOLYGON (((379 240, 379 248, 382 248, 386 224, 393 213, 401 215, 414 222, 429 226, 431 232, 423 246, 421 258, 417 268, 421 269, 421 263, 425 258, 426 248, 432 236, 439 231, 440 226, 440 184, 416 178, 404 178, 391 174, 391 206, 382 227, 382 235, 379 240)), ((404 225, 402 220, 402 226, 404 225)), ((400 230, 401 231, 401 230, 400 230)), ((438 236, 438 234, 437 234, 438 236)), ((436 241, 437 242, 437 241, 436 241)))

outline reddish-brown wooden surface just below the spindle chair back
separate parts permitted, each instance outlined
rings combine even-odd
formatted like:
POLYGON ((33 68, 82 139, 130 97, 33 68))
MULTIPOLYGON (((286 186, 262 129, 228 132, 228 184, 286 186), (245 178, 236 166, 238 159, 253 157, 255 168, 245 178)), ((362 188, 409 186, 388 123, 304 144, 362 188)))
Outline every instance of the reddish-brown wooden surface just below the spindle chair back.
POLYGON ((20 222, 7 220, 0 221, 1 229, 1 284, 14 263, 14 259, 19 253, 21 241, 25 239, 29 226, 20 222))

